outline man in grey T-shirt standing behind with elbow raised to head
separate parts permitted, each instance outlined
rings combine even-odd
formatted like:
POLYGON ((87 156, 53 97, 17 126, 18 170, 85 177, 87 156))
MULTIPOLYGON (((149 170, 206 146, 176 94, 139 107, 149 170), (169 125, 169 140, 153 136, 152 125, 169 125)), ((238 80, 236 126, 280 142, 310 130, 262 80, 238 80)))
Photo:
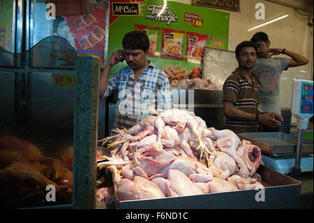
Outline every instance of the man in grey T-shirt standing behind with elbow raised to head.
MULTIPOLYGON (((257 45, 257 59, 252 71, 257 82, 260 84, 258 108, 262 112, 272 110, 281 114, 281 101, 279 97, 281 73, 287 71, 289 67, 308 64, 308 59, 285 48, 269 48, 271 41, 269 41, 267 34, 262 31, 254 34, 251 41, 257 45), (280 54, 291 58, 272 57, 280 54)), ((280 115, 277 119, 283 120, 280 115)), ((267 128, 260 130, 268 131, 267 128)), ((270 129, 269 131, 278 131, 278 129, 270 129)))

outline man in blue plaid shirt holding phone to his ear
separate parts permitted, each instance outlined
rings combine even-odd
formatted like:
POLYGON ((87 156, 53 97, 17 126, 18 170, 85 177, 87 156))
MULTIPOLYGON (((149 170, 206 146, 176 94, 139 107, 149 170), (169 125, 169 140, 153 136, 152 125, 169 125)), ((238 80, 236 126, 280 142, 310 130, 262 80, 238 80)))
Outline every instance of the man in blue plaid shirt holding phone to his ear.
POLYGON ((114 127, 130 129, 149 115, 147 106, 171 108, 170 85, 167 75, 147 59, 149 38, 144 31, 130 31, 123 40, 124 50, 112 53, 100 75, 99 97, 109 96, 118 89, 114 127), (126 60, 124 66, 110 78, 112 66, 126 60))

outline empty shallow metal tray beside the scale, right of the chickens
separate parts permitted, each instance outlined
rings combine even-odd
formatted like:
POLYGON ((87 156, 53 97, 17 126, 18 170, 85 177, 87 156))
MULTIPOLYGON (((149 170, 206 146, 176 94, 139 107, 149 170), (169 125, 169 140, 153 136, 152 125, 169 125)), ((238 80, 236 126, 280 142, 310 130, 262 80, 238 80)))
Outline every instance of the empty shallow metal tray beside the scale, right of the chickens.
MULTIPOLYGON (((297 136, 283 132, 253 132, 237 135, 241 140, 251 141, 262 150, 262 154, 269 156, 291 156, 295 155, 297 151, 297 136)), ((313 154, 313 140, 303 138, 301 152, 302 154, 313 154)))

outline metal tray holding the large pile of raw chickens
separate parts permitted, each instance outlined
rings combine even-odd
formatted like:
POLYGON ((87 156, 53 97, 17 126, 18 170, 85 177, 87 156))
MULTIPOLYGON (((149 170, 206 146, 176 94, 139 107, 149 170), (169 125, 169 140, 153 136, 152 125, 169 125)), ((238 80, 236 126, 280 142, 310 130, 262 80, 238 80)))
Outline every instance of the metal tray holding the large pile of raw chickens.
POLYGON ((246 189, 236 192, 201 194, 195 196, 168 197, 162 199, 143 199, 136 201, 117 201, 121 209, 207 209, 207 208, 262 208, 299 201, 301 182, 274 171, 266 166, 257 170, 262 176, 264 185, 264 201, 256 201, 261 197, 261 189, 246 189))

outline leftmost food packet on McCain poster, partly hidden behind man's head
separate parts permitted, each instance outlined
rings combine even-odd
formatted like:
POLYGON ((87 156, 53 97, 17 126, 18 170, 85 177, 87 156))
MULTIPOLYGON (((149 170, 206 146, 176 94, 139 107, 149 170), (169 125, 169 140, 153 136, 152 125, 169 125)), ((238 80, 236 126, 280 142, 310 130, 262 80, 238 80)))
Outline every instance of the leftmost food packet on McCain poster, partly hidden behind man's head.
POLYGON ((158 52, 158 27, 146 26, 144 24, 135 24, 135 30, 144 30, 149 37, 149 50, 147 51, 147 57, 159 57, 158 52))

